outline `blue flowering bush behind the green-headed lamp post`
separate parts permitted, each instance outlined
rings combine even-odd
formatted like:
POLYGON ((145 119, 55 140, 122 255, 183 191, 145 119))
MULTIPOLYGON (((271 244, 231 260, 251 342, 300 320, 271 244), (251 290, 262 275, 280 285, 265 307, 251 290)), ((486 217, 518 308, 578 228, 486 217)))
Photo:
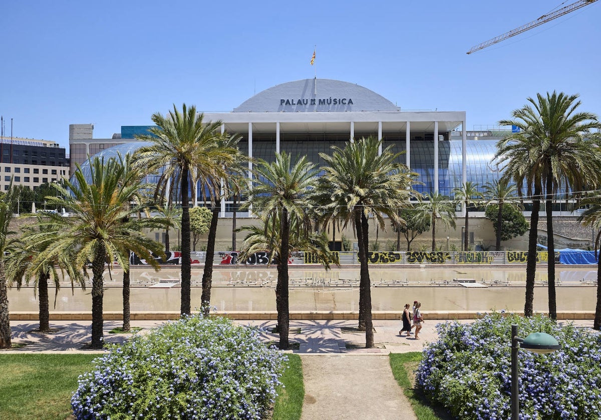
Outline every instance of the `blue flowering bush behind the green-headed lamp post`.
POLYGON ((519 350, 520 419, 601 418, 601 337, 548 317, 486 314, 471 324, 441 323, 416 371, 416 387, 457 419, 511 417, 511 324, 520 337, 551 334, 563 347, 519 350))

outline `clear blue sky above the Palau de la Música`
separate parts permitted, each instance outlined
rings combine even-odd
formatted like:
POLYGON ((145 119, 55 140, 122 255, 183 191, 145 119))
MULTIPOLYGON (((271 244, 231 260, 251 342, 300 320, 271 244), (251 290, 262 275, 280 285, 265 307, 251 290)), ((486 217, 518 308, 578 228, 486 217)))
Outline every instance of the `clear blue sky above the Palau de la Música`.
MULTIPOLYGON (((563 5, 572 3, 566 1, 563 5)), ((228 112, 307 79, 357 83, 403 109, 508 118, 537 92, 581 95, 601 115, 601 1, 466 55, 559 1, 9 1, 0 25, 5 135, 68 148, 195 104, 228 112), (317 46, 316 67, 309 64, 317 46)))

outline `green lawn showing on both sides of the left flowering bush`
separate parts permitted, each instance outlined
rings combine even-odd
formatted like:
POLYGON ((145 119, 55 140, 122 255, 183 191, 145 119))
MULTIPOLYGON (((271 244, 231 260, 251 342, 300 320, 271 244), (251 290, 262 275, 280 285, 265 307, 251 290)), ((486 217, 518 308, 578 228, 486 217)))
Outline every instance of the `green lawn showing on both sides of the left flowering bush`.
MULTIPOLYGON (((77 389, 78 376, 93 368, 99 355, 0 354, 0 419, 58 420, 71 416, 71 395, 77 389)), ((275 401, 273 420, 301 418, 305 388, 301 358, 288 355, 275 401)))

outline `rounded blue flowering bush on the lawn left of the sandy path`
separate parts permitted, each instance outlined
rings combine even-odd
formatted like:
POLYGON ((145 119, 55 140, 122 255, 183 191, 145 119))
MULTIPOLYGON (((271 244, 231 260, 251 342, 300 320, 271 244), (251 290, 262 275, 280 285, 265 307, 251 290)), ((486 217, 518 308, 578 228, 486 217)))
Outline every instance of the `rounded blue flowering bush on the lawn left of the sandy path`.
POLYGON ((94 361, 71 399, 76 419, 261 419, 286 358, 254 328, 188 316, 94 361))

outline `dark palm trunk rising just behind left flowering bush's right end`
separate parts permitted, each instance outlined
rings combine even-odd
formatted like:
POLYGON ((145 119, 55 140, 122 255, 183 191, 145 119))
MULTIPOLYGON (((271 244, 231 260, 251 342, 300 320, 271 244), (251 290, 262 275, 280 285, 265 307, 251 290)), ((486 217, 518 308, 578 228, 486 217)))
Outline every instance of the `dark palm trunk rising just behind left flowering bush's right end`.
POLYGON ((288 226, 288 211, 282 209, 281 248, 278 260, 278 284, 276 286, 275 298, 278 301, 278 329, 279 348, 286 350, 290 347, 288 341, 288 330, 290 328, 290 311, 288 307, 288 254, 290 253, 290 226, 288 226))

